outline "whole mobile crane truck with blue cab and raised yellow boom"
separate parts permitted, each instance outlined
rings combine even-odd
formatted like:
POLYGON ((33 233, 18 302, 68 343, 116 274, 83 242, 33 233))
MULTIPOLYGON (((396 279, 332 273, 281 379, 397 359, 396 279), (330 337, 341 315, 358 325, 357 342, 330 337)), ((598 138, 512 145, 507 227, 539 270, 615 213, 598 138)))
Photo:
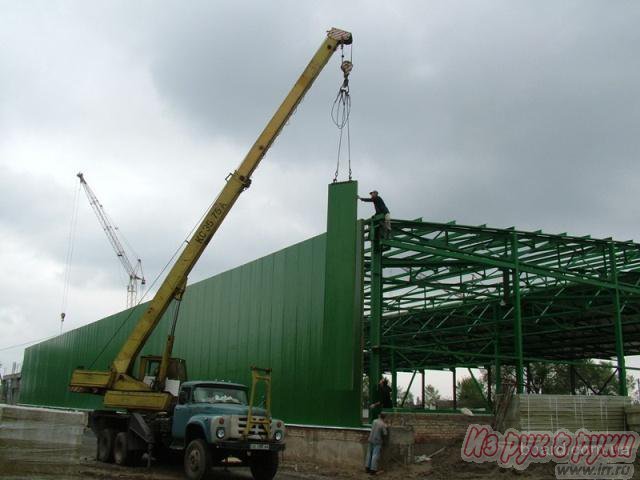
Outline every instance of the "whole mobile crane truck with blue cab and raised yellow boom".
MULTIPOLYGON (((166 449, 184 451, 189 479, 202 479, 214 464, 229 457, 248 465, 256 480, 271 480, 278 469, 278 452, 285 447, 285 426, 271 418, 271 370, 251 367, 249 389, 220 381, 187 381, 185 361, 171 357, 178 308, 162 355, 142 356, 145 342, 171 302, 182 300, 187 276, 240 194, 251 185, 251 175, 291 114, 333 53, 350 45, 349 32, 333 28, 302 75, 264 128, 237 170, 229 174, 222 191, 195 230, 157 293, 141 314, 109 371, 80 367, 73 371, 73 392, 104 396, 104 410, 90 413, 97 437, 97 458, 127 465, 147 453, 147 462, 166 449), (256 385, 265 383, 266 408, 254 407, 256 385)), ((345 74, 351 63, 343 62, 345 74)))

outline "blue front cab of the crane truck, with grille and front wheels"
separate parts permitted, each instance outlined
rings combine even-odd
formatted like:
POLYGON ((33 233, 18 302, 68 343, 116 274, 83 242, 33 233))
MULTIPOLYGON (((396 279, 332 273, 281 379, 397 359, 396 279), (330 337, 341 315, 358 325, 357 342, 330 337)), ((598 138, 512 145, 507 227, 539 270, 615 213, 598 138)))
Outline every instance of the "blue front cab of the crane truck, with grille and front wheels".
MULTIPOLYGON (((171 448, 184 449, 185 474, 202 479, 214 464, 228 458, 247 465, 256 480, 271 480, 284 450, 284 422, 264 408, 249 405, 247 387, 221 381, 189 381, 180 385, 171 423, 171 448)), ((238 462, 236 462, 238 463, 238 462)))

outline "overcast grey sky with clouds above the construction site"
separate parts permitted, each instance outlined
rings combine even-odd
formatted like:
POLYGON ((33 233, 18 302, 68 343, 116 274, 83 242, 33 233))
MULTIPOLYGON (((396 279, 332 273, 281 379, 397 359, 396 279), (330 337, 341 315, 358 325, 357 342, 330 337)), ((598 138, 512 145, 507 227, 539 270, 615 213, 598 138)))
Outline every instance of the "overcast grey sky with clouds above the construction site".
MULTIPOLYGON (((59 330, 75 174, 154 277, 331 26, 355 39, 354 176, 394 216, 640 237, 638 2, 0 0, 0 21, 5 367, 59 330)), ((338 66, 191 281, 323 231, 338 66)), ((124 307, 120 268, 81 197, 65 329, 124 307)))

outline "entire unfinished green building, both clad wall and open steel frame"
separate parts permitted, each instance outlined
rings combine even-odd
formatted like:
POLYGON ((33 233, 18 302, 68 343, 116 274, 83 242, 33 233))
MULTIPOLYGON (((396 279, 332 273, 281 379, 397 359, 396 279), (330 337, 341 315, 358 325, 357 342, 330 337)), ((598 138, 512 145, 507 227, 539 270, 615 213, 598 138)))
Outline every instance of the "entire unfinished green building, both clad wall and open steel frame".
MULTIPOLYGON (((326 234, 188 286, 175 351, 190 378, 245 382, 250 365, 270 366, 278 415, 350 427, 361 425, 363 371, 445 369, 455 384, 456 368, 487 368, 498 392, 508 366, 522 392, 529 363, 615 358, 627 393, 625 355, 640 354, 639 244, 421 220, 393 220, 387 233, 380 218, 357 220, 357 187, 329 186, 326 234)), ((100 408, 101 397, 68 391, 69 376, 108 368, 137 313, 29 347, 22 402, 100 408)), ((162 351, 170 320, 143 354, 162 351)))

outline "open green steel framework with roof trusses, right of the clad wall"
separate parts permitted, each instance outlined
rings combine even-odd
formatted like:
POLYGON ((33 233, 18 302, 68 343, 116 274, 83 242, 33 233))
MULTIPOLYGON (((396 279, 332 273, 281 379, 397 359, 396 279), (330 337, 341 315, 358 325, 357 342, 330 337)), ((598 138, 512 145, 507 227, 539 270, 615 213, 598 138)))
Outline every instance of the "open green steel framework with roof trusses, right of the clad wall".
POLYGON ((369 378, 493 366, 499 392, 508 365, 522 393, 530 362, 615 358, 627 394, 624 357, 640 354, 640 244, 421 220, 385 232, 377 217, 362 234, 369 378))

